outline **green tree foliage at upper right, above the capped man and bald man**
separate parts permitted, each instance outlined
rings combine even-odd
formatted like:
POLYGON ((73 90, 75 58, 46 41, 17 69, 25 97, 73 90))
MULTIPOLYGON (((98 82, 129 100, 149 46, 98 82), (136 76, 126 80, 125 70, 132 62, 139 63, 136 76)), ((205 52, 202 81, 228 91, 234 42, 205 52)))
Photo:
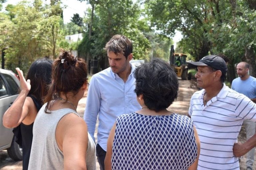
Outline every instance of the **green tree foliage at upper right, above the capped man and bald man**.
POLYGON ((183 38, 178 49, 195 61, 208 54, 223 53, 230 59, 230 80, 234 64, 250 63, 256 75, 256 5, 254 1, 144 0, 151 26, 172 36, 175 30, 183 38))

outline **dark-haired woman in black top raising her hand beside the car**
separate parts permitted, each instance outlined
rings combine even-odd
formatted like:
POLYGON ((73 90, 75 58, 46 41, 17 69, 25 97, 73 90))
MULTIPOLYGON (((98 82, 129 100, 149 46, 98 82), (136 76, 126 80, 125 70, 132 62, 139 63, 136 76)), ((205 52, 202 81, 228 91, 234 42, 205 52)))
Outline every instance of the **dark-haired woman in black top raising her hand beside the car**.
POLYGON ((14 128, 16 142, 22 146, 23 170, 28 169, 32 144, 32 129, 37 112, 43 105, 43 97, 51 83, 52 61, 37 59, 29 68, 26 79, 23 72, 16 68, 20 78, 20 93, 3 115, 3 125, 14 128))

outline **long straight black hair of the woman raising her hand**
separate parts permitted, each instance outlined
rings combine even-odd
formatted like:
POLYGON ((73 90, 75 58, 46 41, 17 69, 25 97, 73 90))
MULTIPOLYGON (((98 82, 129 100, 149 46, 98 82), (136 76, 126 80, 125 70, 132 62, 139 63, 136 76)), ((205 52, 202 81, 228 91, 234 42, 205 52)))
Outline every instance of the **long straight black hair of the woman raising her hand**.
POLYGON ((51 83, 52 60, 39 58, 32 63, 26 80, 30 79, 31 89, 28 94, 35 96, 43 104, 43 97, 48 92, 51 83))

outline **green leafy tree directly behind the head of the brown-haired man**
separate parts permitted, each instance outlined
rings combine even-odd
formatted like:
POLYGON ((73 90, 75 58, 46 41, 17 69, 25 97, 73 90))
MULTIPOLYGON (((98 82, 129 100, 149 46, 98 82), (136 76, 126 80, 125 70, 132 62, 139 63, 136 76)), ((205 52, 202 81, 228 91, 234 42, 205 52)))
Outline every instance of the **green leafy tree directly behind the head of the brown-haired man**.
POLYGON ((102 69, 108 67, 106 52, 103 50, 106 42, 115 35, 123 34, 133 41, 135 59, 146 58, 149 41, 139 30, 138 22, 140 8, 132 0, 105 0, 88 1, 93 3, 94 8, 88 10, 90 13, 85 19, 88 25, 92 25, 90 34, 84 36, 79 46, 80 54, 88 53, 91 59, 98 59, 102 69), (92 13, 95 9, 95 13, 92 13), (90 19, 93 16, 93 20, 90 19), (91 23, 92 22, 92 23, 91 23))

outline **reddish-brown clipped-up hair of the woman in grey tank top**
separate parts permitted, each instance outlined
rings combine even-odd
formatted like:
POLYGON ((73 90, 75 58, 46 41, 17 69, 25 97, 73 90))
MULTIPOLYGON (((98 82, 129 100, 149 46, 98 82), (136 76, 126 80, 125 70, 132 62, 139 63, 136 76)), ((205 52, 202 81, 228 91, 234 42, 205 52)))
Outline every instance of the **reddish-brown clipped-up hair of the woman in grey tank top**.
POLYGON ((52 84, 45 96, 44 102, 48 102, 45 112, 50 107, 50 101, 62 92, 66 98, 67 93, 78 93, 84 83, 87 83, 87 65, 83 59, 73 56, 68 51, 61 50, 59 58, 52 65, 52 84))

